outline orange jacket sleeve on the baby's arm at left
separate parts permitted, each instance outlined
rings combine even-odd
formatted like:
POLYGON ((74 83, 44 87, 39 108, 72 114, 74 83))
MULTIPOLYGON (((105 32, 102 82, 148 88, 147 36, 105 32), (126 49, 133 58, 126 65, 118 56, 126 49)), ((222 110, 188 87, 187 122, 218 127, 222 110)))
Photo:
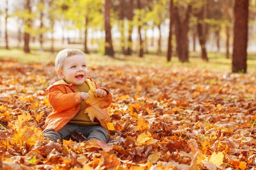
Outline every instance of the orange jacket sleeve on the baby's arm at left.
POLYGON ((56 111, 63 111, 81 102, 81 92, 66 93, 61 86, 55 86, 48 93, 48 100, 56 111))

